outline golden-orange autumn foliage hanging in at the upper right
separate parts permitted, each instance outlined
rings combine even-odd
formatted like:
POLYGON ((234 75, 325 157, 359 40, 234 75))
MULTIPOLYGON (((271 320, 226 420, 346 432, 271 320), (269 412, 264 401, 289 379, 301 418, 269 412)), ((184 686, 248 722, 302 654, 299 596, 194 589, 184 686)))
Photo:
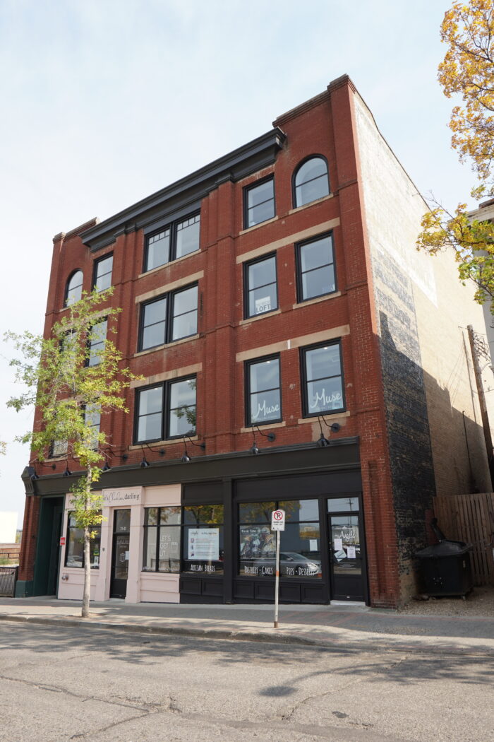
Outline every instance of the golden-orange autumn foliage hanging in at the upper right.
MULTIPOLYGON (((451 144, 462 162, 469 161, 479 185, 472 197, 494 196, 494 0, 454 3, 444 15, 441 41, 447 44, 438 80, 448 98, 459 95, 450 119, 451 144)), ((446 246, 453 249, 463 283, 477 286, 475 299, 490 301, 494 312, 494 226, 470 220, 467 205, 448 211, 431 200, 422 220, 418 249, 431 255, 446 246)))

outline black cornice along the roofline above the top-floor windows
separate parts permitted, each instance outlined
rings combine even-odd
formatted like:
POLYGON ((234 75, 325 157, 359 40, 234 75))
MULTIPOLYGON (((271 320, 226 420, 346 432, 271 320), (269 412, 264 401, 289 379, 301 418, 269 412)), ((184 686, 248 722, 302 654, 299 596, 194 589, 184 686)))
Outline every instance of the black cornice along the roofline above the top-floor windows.
POLYGON ((176 183, 167 185, 161 191, 147 196, 141 201, 105 219, 85 232, 81 239, 92 252, 113 243, 116 234, 141 229, 158 219, 173 218, 173 214, 207 196, 225 180, 241 180, 261 168, 272 165, 278 151, 284 144, 286 134, 274 128, 252 142, 248 142, 229 154, 225 154, 204 168, 196 170, 176 183))

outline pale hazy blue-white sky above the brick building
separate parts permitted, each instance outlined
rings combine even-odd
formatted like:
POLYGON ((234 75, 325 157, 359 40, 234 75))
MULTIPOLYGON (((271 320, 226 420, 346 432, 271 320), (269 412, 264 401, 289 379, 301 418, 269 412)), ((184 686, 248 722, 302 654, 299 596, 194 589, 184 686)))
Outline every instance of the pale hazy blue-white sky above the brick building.
MULTIPOLYGON (((344 73, 417 188, 475 177, 437 82, 447 0, 0 0, 0 338, 41 332, 53 236, 269 131, 344 73)), ((0 511, 19 513, 32 413, 0 344, 0 511)))

